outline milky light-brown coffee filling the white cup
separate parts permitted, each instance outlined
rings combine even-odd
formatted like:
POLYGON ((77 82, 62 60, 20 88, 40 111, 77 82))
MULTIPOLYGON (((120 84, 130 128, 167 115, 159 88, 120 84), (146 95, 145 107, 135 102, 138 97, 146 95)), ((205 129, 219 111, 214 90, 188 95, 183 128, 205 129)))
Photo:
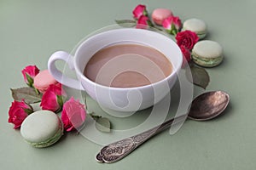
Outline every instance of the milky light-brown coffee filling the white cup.
POLYGON ((172 63, 157 49, 139 44, 102 48, 84 66, 84 76, 113 88, 149 85, 168 77, 172 63))

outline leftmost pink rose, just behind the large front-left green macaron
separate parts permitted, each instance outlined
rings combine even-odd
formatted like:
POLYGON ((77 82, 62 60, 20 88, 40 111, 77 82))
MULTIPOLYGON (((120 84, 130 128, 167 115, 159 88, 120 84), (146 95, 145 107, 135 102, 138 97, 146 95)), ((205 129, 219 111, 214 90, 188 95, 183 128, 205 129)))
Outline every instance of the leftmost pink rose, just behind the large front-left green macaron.
POLYGON ((32 106, 22 101, 14 101, 9 108, 8 122, 15 124, 14 128, 20 127, 26 116, 33 112, 32 106))

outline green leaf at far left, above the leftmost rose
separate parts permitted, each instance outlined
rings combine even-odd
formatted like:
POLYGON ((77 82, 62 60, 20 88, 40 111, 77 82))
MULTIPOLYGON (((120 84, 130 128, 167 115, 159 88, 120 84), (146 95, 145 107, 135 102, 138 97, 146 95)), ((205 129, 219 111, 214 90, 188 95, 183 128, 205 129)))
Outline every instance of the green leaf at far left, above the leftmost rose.
POLYGON ((42 95, 37 94, 34 88, 11 88, 11 92, 15 100, 21 101, 22 99, 24 99, 25 102, 28 104, 38 103, 42 99, 42 95))

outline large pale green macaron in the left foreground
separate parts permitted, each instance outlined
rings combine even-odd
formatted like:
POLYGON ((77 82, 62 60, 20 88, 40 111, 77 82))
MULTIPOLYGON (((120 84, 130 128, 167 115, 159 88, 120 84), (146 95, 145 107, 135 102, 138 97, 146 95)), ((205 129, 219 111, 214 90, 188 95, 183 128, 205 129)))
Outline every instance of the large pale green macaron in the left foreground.
POLYGON ((63 134, 63 124, 52 111, 35 111, 20 127, 21 136, 32 146, 44 148, 55 144, 63 134))

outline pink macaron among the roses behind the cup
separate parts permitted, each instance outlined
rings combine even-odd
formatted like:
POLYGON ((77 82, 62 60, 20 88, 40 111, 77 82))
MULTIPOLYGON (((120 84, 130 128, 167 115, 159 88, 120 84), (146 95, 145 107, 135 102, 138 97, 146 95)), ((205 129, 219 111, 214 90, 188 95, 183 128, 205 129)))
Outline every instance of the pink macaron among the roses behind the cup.
POLYGON ((155 24, 162 26, 163 20, 172 16, 172 11, 167 8, 156 8, 154 9, 151 17, 155 24))

